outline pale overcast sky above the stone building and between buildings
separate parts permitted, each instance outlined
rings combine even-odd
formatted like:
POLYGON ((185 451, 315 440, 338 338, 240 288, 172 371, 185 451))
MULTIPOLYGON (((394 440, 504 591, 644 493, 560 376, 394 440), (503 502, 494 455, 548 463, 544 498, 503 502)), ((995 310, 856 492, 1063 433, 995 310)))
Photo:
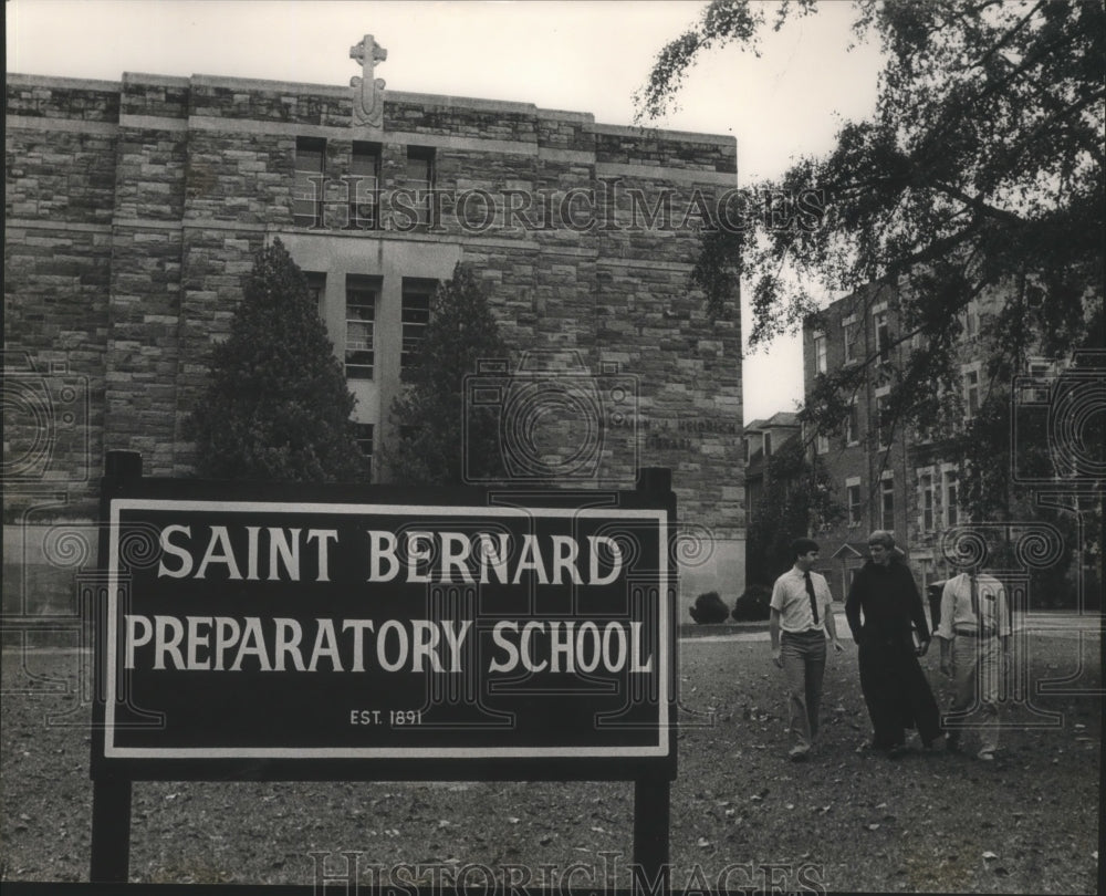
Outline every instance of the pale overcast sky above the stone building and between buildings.
MULTIPOLYGON (((630 124, 633 93, 667 40, 705 4, 675 2, 306 2, 306 0, 8 0, 8 71, 118 81, 123 72, 218 74, 347 85, 349 46, 371 33, 388 51, 390 90, 535 103, 630 124)), ((771 4, 770 4, 771 6, 771 4)), ((843 121, 875 106, 878 54, 847 52, 853 9, 769 34, 758 59, 712 52, 680 108, 657 126, 732 134, 738 183, 823 153, 843 121)), ((745 317, 748 332, 748 316, 745 317)), ((802 399, 797 340, 744 361, 744 418, 802 399)))

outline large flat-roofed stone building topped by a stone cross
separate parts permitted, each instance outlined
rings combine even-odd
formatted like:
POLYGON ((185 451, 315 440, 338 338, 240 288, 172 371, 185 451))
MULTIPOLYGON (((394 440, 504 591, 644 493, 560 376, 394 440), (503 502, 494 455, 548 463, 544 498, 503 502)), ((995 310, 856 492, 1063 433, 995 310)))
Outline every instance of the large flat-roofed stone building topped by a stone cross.
POLYGON ((546 446, 584 457, 561 479, 629 488, 637 467, 671 468, 698 533, 684 593, 739 594, 738 316, 709 320, 689 286, 697 228, 735 187, 734 139, 384 92, 372 38, 351 55, 352 87, 9 75, 6 392, 27 400, 6 402, 6 541, 93 519, 107 450, 191 472, 211 348, 279 238, 319 296, 375 481, 428 295, 468 262, 512 351, 482 373, 522 365, 594 417, 563 435, 592 444, 546 446))

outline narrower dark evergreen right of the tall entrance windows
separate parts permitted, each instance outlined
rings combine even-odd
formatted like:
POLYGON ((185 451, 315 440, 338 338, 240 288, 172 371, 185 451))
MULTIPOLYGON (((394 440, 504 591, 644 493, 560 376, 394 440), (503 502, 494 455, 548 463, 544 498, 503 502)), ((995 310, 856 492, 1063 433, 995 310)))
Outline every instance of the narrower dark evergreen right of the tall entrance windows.
POLYGON ((404 373, 407 388, 392 405, 399 434, 384 457, 396 481, 462 485, 502 479, 498 418, 467 404, 465 377, 477 362, 505 360, 507 346, 472 269, 458 262, 438 286, 430 322, 415 364, 404 373))

